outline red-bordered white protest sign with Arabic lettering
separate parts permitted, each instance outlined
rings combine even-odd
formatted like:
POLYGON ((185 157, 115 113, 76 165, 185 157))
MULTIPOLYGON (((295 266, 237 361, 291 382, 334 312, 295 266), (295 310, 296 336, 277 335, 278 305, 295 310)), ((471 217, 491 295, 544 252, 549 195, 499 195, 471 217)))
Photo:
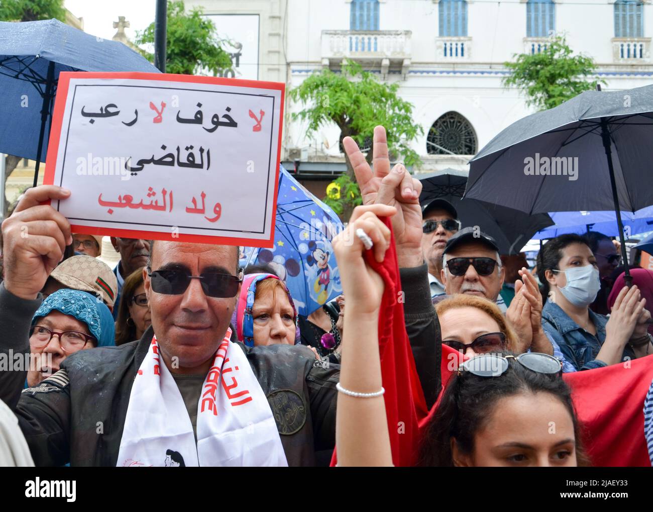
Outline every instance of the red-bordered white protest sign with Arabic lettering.
POLYGON ((73 232, 272 246, 284 84, 62 72, 45 184, 73 232))

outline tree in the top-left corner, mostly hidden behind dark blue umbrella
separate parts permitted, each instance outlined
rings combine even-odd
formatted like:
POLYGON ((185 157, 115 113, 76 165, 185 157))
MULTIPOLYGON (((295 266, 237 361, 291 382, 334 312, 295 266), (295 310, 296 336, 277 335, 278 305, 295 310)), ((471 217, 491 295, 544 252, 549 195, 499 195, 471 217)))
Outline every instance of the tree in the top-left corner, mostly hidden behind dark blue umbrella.
MULTIPOLYGON (((65 21, 66 10, 63 7, 63 0, 0 0, 0 21, 2 22, 35 22, 52 18, 61 22, 65 21)), ((2 177, 5 184, 20 160, 21 157, 16 155, 5 157, 5 176, 2 177)), ((8 208, 9 203, 5 195, 5 211, 0 212, 3 217, 7 215, 8 208)))

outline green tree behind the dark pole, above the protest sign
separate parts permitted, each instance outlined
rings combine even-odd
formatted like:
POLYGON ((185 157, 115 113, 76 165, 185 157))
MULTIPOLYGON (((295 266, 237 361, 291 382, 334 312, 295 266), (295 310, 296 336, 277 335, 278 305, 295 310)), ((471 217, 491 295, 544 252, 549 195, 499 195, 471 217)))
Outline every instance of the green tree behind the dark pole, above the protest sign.
MULTIPOLYGON (((197 74, 208 71, 216 76, 231 67, 231 56, 222 49, 225 40, 217 35, 211 20, 202 17, 202 9, 186 12, 182 1, 168 1, 166 72, 197 74)), ((154 24, 136 33, 136 44, 154 43, 154 24)), ((143 52, 154 62, 154 54, 143 52)))

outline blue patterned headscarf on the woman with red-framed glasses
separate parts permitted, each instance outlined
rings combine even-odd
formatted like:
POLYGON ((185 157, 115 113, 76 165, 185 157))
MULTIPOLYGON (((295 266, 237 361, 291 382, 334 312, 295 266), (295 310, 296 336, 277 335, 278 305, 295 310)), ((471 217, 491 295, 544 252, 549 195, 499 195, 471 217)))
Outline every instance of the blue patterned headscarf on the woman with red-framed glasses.
POLYGON ((84 322, 97 340, 98 347, 110 347, 116 344, 114 317, 104 302, 98 302, 90 293, 64 288, 49 295, 34 313, 32 324, 39 318, 58 311, 84 322))

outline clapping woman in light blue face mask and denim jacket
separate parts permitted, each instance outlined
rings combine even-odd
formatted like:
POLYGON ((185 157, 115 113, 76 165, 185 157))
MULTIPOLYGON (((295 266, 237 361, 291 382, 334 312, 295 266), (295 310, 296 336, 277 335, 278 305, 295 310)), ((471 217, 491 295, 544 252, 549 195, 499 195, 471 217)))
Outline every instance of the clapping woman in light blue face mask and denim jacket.
POLYGON ((564 234, 537 255, 537 276, 548 297, 542 325, 575 370, 590 370, 653 353, 646 300, 624 287, 609 317, 589 309, 601 287, 596 258, 584 237, 564 234))

